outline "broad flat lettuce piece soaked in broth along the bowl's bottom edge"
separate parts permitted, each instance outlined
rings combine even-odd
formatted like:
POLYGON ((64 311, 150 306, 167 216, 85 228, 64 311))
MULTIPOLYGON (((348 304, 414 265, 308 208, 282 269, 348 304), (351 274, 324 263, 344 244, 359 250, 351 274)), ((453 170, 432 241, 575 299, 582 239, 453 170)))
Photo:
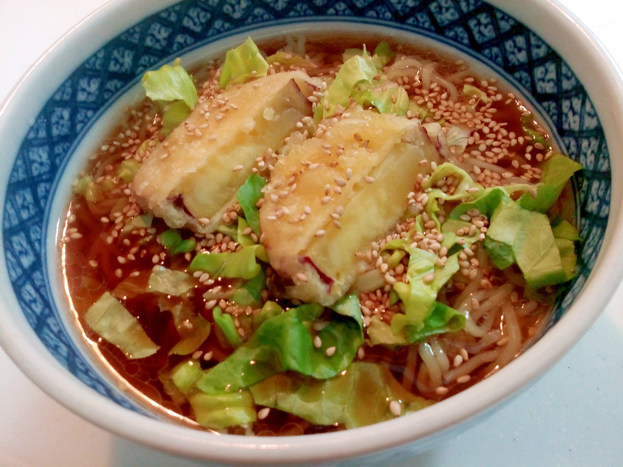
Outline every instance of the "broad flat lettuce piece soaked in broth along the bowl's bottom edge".
POLYGON ((354 362, 344 374, 328 380, 293 373, 274 375, 250 387, 255 403, 293 413, 316 425, 340 423, 358 428, 395 418, 389 403, 401 405, 401 415, 434 402, 404 389, 386 367, 354 362))

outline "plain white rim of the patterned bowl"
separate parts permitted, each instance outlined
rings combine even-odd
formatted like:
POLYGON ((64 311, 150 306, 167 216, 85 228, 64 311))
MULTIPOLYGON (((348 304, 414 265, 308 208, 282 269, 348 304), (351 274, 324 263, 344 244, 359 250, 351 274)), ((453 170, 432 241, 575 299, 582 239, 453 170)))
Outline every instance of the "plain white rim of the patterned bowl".
MULTIPOLYGON (((66 75, 61 73, 60 81, 52 79, 47 85, 40 85, 49 70, 54 70, 55 64, 69 64, 65 69, 74 70, 101 44, 150 14, 177 2, 141 2, 141 7, 137 7, 133 0, 113 0, 72 27, 36 60, 0 105, 0 134, 11 134, 14 139, 8 144, 0 143, 8 148, 3 152, 16 154, 17 146, 31 125, 31 115, 22 115, 19 112, 21 106, 26 106, 36 115, 40 102, 36 93, 33 97, 33 92, 37 91, 47 98, 65 79, 66 75), (102 42, 89 40, 94 31, 102 32, 103 24, 115 26, 107 26, 105 32, 99 35, 102 42)), ((591 97, 604 128, 611 159, 623 153, 623 136, 617 131, 623 128, 623 113, 620 111, 623 109, 623 78, 594 34, 554 0, 489 0, 488 3, 529 25, 566 60, 591 97)), ((3 279, 0 288, 4 291, 0 298, 3 323, 0 326, 0 344, 40 389, 81 417, 117 435, 178 455, 235 464, 251 461, 259 465, 275 465, 338 460, 396 447, 439 434, 500 403, 542 375, 586 333, 623 276, 623 270, 619 268, 623 259, 622 213, 619 209, 612 209, 623 201, 622 187, 618 182, 621 180, 619 164, 611 164, 611 174, 611 211, 604 242, 591 275, 563 318, 521 358, 492 377, 432 407, 388 422, 313 436, 248 438, 206 436, 204 432, 131 412, 83 385, 45 349, 21 312, 11 313, 11 309, 21 308, 8 281, 4 254, 0 255, 3 279)), ((8 175, 0 175, 1 187, 6 187, 8 175)), ((4 191, 0 193, 2 205, 5 194, 4 191)), ((3 232, 0 232, 1 235, 3 232)))

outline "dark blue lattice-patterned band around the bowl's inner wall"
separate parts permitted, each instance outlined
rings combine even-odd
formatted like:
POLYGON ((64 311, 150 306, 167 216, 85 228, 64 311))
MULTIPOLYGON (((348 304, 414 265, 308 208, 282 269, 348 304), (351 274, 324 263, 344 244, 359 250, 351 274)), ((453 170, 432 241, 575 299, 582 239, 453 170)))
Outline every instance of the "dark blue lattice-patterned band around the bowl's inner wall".
MULTIPOLYGON (((610 207, 611 172, 591 100, 564 60, 538 35, 479 0, 185 0, 154 14, 98 50, 50 97, 21 144, 6 192, 2 229, 9 276, 24 316, 52 355, 86 385, 146 413, 102 379, 60 320, 46 275, 43 232, 57 180, 98 115, 145 70, 227 35, 300 21, 350 21, 419 32, 481 60, 522 89, 584 166, 575 180, 584 239, 574 278, 549 326, 589 276, 610 207)), ((60 187, 66 190, 67 187, 60 187)))

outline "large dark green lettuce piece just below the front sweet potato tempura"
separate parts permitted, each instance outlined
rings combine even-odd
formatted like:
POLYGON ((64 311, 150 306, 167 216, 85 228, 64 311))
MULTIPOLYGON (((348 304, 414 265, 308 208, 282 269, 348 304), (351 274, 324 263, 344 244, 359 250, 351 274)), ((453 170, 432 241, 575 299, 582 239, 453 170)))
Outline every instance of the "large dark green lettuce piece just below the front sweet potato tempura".
POLYGON ((317 379, 335 376, 349 366, 363 344, 363 318, 355 295, 345 296, 331 309, 335 313, 328 321, 320 319, 325 308, 315 303, 266 319, 249 341, 202 377, 197 387, 208 394, 222 394, 287 370, 317 379), (316 332, 320 347, 314 345, 316 332))

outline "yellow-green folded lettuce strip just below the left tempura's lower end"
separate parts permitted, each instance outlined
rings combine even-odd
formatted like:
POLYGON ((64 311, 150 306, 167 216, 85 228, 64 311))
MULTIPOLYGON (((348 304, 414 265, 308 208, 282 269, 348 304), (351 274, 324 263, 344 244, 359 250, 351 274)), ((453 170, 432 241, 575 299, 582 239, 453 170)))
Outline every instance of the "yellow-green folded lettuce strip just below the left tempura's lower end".
POLYGON ((202 253, 193 258, 188 270, 204 271, 212 277, 239 277, 249 280, 262 269, 255 261, 256 250, 260 247, 262 245, 242 247, 242 250, 234 253, 202 253))

